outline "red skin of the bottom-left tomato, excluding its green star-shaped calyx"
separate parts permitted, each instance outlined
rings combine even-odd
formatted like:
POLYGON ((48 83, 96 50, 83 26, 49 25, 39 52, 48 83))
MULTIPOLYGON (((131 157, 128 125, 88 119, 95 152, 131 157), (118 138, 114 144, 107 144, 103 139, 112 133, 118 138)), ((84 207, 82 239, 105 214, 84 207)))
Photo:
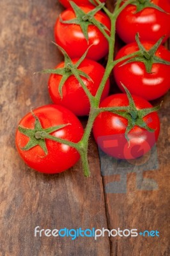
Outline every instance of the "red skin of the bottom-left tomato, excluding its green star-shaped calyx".
MULTIPOLYGON (((63 106, 49 104, 37 108, 33 112, 38 116, 43 128, 61 124, 71 124, 56 132, 52 132, 51 135, 56 135, 58 138, 72 142, 81 140, 84 132, 81 122, 70 110, 63 106)), ((31 113, 28 113, 20 120, 19 125, 33 129, 35 118, 31 113)), ((75 148, 52 140, 45 140, 48 149, 47 156, 45 156, 45 153, 39 145, 26 151, 22 150, 20 147, 24 147, 28 141, 29 138, 17 129, 15 143, 20 157, 29 167, 38 172, 51 174, 60 173, 72 167, 79 160, 80 156, 75 148)))

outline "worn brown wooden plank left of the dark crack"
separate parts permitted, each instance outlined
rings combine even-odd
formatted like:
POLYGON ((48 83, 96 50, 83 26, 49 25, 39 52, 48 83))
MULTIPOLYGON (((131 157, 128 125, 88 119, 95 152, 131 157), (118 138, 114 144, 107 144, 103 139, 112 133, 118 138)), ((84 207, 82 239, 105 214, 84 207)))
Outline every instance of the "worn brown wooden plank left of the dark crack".
POLYGON ((91 141, 89 179, 81 163, 60 175, 27 168, 15 149, 15 129, 31 106, 50 102, 48 76, 33 72, 62 60, 53 26, 63 10, 57 1, 1 1, 1 256, 110 255, 107 237, 34 237, 34 228, 107 227, 97 147, 91 141))

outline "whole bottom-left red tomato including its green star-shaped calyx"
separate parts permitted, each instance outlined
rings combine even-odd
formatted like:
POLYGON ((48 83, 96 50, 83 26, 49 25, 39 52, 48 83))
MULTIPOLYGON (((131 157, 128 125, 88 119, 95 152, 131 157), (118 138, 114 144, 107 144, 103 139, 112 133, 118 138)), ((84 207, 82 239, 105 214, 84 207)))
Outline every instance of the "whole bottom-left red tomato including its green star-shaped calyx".
POLYGON ((42 173, 60 173, 80 158, 79 152, 62 140, 77 143, 83 133, 81 122, 70 110, 49 104, 34 109, 20 120, 15 143, 29 167, 42 173), (54 141, 55 138, 58 141, 54 141))

